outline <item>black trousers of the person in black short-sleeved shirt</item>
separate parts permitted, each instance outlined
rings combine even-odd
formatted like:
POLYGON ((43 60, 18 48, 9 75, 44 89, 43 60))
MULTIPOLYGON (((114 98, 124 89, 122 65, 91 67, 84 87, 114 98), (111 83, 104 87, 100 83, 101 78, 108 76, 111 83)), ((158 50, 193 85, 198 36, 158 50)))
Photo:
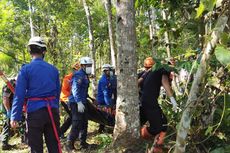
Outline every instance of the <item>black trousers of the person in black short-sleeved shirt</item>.
POLYGON ((156 135, 161 131, 167 131, 167 118, 159 106, 150 106, 142 103, 140 120, 141 125, 144 125, 147 121, 149 122, 148 131, 152 135, 156 135))

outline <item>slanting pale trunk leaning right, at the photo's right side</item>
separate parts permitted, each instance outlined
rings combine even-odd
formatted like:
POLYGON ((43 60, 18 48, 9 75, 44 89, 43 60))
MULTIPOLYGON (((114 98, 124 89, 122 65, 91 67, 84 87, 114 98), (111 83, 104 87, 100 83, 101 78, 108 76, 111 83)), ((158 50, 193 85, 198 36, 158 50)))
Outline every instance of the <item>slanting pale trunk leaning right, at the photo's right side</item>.
MULTIPOLYGON (((229 5, 229 2, 228 2, 229 5)), ((182 114, 179 128, 177 131, 176 147, 174 153, 185 152, 186 147, 186 137, 189 132, 190 123, 192 120, 192 113, 195 110, 197 103, 197 98, 199 97, 199 89, 201 82, 207 72, 209 59, 213 54, 216 44, 218 43, 219 37, 224 30, 224 27, 228 21, 229 14, 225 11, 218 19, 216 27, 213 29, 211 40, 206 44, 204 53, 202 55, 201 64, 196 72, 195 78, 192 83, 192 88, 190 90, 188 100, 186 103, 185 110, 182 114)))

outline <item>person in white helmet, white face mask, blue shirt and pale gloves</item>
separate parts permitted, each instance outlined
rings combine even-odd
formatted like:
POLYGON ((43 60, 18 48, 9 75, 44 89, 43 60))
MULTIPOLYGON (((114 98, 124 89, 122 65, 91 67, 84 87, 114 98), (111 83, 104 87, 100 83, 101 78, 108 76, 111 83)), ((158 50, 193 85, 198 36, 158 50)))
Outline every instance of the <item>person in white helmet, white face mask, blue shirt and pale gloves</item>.
POLYGON ((87 149, 86 142, 88 127, 87 97, 89 78, 92 73, 93 60, 89 57, 80 58, 80 69, 75 71, 72 78, 72 93, 69 96, 70 109, 72 114, 72 127, 67 137, 67 151, 75 150, 74 142, 80 139, 80 149, 87 149))

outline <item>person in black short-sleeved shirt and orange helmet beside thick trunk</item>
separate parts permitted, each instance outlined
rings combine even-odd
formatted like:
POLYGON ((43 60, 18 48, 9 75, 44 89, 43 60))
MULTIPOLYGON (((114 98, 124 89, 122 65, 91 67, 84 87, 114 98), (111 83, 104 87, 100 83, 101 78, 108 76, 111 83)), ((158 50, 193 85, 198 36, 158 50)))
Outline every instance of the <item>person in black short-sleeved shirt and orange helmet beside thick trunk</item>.
MULTIPOLYGON (((176 111, 177 103, 173 97, 173 93, 169 84, 169 74, 164 68, 152 70, 151 65, 147 63, 155 62, 152 58, 147 58, 144 61, 144 66, 146 73, 144 72, 139 80, 142 80, 142 93, 141 93, 141 108, 140 108, 140 118, 141 125, 149 122, 149 127, 143 126, 141 129, 141 136, 144 139, 151 139, 155 137, 155 152, 162 152, 162 144, 164 142, 164 137, 167 130, 167 119, 163 114, 161 107, 158 104, 158 97, 160 93, 160 87, 163 86, 166 90, 167 95, 173 105, 173 110, 176 111), (148 67, 149 66, 149 67, 148 67), (154 117, 153 117, 154 116, 154 117)), ((140 82, 139 82, 140 83, 140 82)))

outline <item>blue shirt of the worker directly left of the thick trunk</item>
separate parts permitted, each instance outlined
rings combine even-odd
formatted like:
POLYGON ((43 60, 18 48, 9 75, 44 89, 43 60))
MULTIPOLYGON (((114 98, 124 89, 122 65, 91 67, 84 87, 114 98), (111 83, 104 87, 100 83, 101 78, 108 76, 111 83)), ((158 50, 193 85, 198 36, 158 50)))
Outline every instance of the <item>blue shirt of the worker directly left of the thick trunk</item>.
POLYGON ((98 83, 97 102, 99 105, 112 105, 111 80, 105 74, 102 75, 98 83))

